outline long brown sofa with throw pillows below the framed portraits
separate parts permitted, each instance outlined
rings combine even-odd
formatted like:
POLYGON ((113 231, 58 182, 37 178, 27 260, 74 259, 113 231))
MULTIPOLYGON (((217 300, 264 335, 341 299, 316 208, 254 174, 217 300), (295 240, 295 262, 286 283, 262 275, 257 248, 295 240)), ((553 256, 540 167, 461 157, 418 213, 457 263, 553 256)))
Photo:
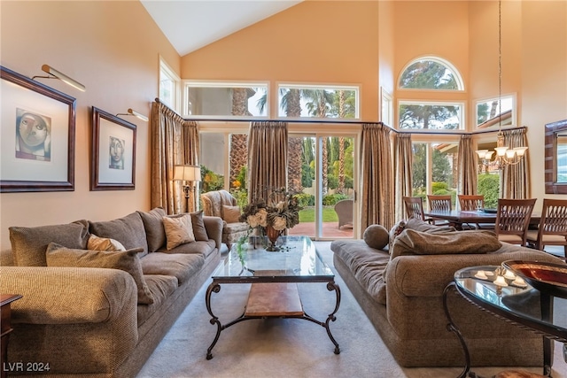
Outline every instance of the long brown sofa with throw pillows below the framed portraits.
POLYGON ((9 374, 136 375, 220 263, 220 218, 191 214, 196 241, 167 250, 165 215, 156 208, 117 220, 10 228, 0 292, 23 297, 12 303, 8 361, 49 364, 50 370, 9 374), (83 251, 91 235, 118 241, 128 252, 83 251), (120 261, 131 263, 128 272, 76 267, 104 265, 99 253, 126 256, 120 261), (74 260, 78 255, 89 258, 74 260))

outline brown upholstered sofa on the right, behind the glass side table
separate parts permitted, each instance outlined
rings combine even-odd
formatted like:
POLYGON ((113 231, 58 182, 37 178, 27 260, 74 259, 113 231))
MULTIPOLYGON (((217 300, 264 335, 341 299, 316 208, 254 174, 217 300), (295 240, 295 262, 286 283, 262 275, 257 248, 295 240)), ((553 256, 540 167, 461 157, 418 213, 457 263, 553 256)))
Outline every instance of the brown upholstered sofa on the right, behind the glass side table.
MULTIPOLYGON (((408 220, 392 243, 392 254, 388 247, 377 250, 363 240, 338 240, 330 248, 338 274, 400 366, 464 366, 462 347, 447 331, 442 304, 454 272, 509 259, 562 260, 500 243, 491 231, 431 232, 434 226, 408 220)), ((483 312, 454 290, 447 304, 472 366, 543 365, 541 336, 483 312)))

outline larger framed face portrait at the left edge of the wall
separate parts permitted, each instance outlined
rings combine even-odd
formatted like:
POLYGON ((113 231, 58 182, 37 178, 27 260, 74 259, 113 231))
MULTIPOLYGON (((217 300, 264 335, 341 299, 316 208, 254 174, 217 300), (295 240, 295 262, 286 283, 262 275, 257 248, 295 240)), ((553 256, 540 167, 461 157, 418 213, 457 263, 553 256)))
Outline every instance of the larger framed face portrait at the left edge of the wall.
POLYGON ((0 192, 74 190, 76 100, 0 66, 0 192))

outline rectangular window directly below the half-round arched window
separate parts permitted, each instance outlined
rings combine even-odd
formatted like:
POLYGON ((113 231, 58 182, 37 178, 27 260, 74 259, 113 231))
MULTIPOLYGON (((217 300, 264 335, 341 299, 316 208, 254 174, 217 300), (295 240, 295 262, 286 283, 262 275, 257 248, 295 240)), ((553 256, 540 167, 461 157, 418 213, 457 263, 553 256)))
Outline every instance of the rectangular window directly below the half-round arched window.
POLYGON ((464 104, 400 101, 400 128, 464 129, 464 104))

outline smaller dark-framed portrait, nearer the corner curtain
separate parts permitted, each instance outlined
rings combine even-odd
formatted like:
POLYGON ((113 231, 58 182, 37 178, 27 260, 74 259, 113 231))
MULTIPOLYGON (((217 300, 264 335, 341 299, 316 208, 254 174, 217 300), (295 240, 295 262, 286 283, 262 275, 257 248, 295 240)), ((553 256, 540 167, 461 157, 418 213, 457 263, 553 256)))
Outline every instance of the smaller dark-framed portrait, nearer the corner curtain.
POLYGON ((136 125, 92 107, 90 190, 136 188, 136 125))

